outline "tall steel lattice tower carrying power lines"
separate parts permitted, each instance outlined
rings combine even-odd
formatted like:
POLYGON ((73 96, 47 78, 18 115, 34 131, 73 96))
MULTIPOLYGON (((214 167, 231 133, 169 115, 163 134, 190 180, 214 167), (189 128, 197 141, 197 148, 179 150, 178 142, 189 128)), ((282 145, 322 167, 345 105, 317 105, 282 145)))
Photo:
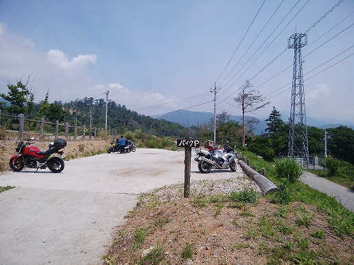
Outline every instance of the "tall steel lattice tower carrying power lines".
POLYGON ((305 110, 305 92, 303 82, 303 60, 301 48, 307 45, 307 34, 296 33, 289 38, 289 49, 294 49, 294 68, 292 71, 292 103, 290 108, 290 131, 288 155, 303 158, 309 164, 309 143, 305 110), (301 39, 305 37, 305 42, 301 39))

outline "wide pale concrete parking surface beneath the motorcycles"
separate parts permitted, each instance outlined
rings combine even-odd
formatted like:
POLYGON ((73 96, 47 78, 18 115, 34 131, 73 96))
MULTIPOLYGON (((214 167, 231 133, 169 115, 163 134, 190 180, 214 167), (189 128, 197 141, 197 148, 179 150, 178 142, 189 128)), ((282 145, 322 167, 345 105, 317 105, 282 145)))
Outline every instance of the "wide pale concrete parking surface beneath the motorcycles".
MULTIPOLYGON (((137 149, 65 162, 48 170, 0 175, 0 264, 102 264, 112 233, 133 210, 138 194, 183 183, 184 152, 137 149)), ((191 180, 242 175, 201 174, 191 162, 191 180)))

